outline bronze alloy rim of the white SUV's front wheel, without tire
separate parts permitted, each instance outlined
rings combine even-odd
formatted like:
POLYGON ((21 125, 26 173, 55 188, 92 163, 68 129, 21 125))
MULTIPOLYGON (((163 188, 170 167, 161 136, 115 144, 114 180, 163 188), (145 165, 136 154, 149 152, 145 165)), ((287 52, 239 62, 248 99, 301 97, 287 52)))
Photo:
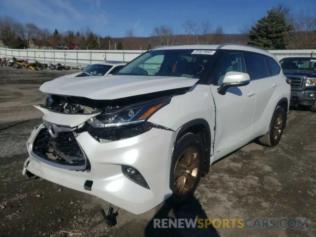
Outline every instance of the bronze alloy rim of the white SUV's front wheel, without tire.
POLYGON ((195 147, 186 148, 179 156, 173 171, 173 191, 178 196, 190 192, 199 173, 199 152, 195 147))

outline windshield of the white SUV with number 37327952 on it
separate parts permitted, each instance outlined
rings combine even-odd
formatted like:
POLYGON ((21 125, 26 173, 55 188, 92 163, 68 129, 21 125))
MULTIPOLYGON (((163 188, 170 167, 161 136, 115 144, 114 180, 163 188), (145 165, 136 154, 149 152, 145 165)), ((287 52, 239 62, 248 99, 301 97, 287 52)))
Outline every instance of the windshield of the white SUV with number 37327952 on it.
POLYGON ((214 62, 216 51, 165 49, 144 53, 115 75, 179 76, 201 79, 214 62))

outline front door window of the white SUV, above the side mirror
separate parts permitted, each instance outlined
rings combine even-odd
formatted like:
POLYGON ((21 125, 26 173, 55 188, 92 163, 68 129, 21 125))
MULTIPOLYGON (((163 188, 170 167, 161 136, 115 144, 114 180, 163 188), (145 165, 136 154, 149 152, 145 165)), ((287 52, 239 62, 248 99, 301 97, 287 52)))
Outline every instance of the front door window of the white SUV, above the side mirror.
POLYGON ((246 64, 242 52, 231 52, 224 57, 216 75, 217 85, 222 85, 226 72, 246 73, 246 64))

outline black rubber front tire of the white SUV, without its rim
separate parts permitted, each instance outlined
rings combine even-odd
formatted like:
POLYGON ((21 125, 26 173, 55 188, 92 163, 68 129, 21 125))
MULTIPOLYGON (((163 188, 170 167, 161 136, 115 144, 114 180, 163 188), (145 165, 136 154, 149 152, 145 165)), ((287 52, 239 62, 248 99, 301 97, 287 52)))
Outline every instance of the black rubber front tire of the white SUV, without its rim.
POLYGON ((175 147, 175 151, 174 151, 174 154, 173 154, 173 158, 172 158, 172 162, 171 162, 171 172, 170 172, 170 175, 171 175, 171 180, 173 182, 173 194, 172 196, 168 199, 168 202, 170 204, 172 204, 173 206, 174 205, 181 205, 181 204, 184 204, 186 203, 187 201, 189 201, 192 197, 193 197, 193 194, 195 192, 195 190, 197 189, 197 186, 200 182, 200 179, 201 179, 201 174, 203 173, 203 167, 204 167, 204 145, 203 145, 203 141, 201 140, 200 137, 198 137, 197 135, 193 134, 193 133, 186 133, 184 136, 182 136, 177 144, 176 144, 176 147, 175 147), (197 171, 197 175, 196 175, 196 178, 195 178, 195 182, 193 184, 193 186, 190 188, 189 191, 187 191, 184 195, 177 195, 175 193, 175 178, 174 177, 174 170, 175 170, 175 167, 179 161, 179 159, 181 158, 181 154, 183 154, 183 152, 190 148, 190 147, 193 147, 194 149, 197 150, 197 155, 196 155, 196 159, 198 159, 199 163, 198 163, 198 171, 197 171))

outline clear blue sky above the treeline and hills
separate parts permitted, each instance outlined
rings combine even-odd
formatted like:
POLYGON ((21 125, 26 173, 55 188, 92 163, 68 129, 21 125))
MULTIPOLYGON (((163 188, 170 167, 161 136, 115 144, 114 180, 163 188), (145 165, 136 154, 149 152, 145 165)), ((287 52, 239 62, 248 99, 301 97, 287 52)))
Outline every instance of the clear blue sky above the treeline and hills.
POLYGON ((0 16, 33 22, 40 28, 77 31, 82 27, 101 36, 124 37, 127 29, 135 36, 150 36, 154 27, 171 26, 183 33, 186 20, 208 20, 214 30, 221 25, 225 33, 240 33, 278 3, 286 3, 294 13, 316 12, 316 0, 0 0, 0 16))

